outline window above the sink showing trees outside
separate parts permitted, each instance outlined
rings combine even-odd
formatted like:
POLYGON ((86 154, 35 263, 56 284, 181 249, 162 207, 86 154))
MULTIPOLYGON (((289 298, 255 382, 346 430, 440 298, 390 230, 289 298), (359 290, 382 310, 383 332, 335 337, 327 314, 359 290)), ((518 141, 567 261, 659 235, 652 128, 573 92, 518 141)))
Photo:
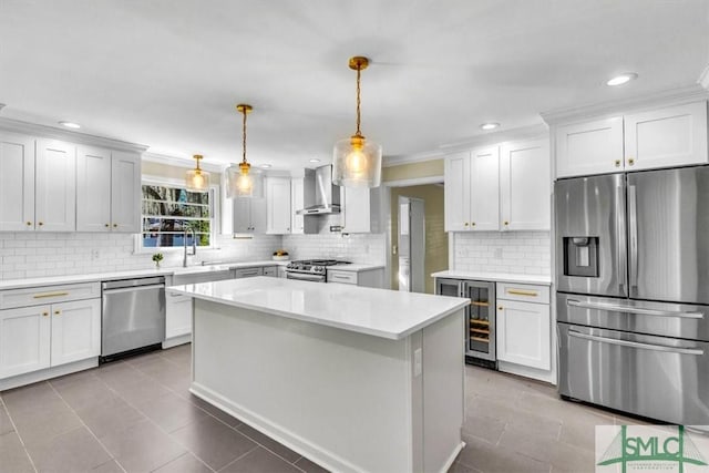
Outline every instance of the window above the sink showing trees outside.
MULTIPOLYGON (((143 184, 143 248, 181 247, 193 229, 197 246, 210 246, 214 235, 214 189, 186 191, 171 184, 143 184)), ((192 245, 192 233, 187 245, 192 245)))

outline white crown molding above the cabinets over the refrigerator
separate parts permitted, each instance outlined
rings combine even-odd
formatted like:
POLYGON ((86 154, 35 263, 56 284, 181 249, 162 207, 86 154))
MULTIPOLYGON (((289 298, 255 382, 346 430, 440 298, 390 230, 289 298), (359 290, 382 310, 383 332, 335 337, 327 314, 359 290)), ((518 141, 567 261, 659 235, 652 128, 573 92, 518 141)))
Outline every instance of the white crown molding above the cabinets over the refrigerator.
MULTIPOLYGON (((709 82, 707 70, 700 76, 700 81, 709 82)), ((709 84, 707 84, 709 85, 709 84)), ((658 106, 675 105, 681 102, 693 102, 709 99, 709 91, 703 83, 695 83, 682 88, 638 95, 629 99, 613 100, 596 104, 586 104, 568 109, 555 109, 542 112, 542 119, 549 124, 572 123, 589 117, 603 117, 629 111, 653 109, 658 106)))

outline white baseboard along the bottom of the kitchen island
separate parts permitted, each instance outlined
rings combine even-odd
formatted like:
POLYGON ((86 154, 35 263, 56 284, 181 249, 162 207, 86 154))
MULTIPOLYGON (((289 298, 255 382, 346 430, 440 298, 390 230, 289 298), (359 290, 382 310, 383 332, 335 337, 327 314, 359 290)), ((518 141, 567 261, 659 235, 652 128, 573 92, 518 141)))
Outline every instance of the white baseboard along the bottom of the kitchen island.
MULTIPOLYGON (((195 394, 197 398, 201 398, 209 402, 210 404, 222 409, 223 411, 229 413, 238 420, 244 421, 263 434, 268 435, 269 438, 286 445, 294 452, 300 453, 301 455, 306 456, 308 460, 317 463, 323 469, 335 472, 362 471, 361 467, 358 467, 357 465, 342 459, 333 452, 322 450, 318 445, 309 442, 307 439, 304 439, 302 436, 290 432, 289 430, 282 428, 281 425, 278 425, 275 422, 270 422, 267 419, 264 419, 259 414, 244 408, 243 405, 229 401, 223 395, 214 392, 208 388, 205 388, 204 385, 201 385, 197 382, 192 383, 189 392, 195 394)), ((455 455, 458 455, 458 452, 455 453, 455 455)), ((455 460, 455 456, 453 456, 453 460, 455 460)))

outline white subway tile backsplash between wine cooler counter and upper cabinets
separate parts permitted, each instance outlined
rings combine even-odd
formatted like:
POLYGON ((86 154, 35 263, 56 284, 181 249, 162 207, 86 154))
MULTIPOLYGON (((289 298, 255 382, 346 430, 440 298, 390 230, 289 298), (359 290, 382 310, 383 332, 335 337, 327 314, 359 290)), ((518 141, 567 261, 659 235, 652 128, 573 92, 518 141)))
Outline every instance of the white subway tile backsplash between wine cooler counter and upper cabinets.
POLYGON ((456 233, 454 268, 464 271, 549 275, 549 232, 456 233))

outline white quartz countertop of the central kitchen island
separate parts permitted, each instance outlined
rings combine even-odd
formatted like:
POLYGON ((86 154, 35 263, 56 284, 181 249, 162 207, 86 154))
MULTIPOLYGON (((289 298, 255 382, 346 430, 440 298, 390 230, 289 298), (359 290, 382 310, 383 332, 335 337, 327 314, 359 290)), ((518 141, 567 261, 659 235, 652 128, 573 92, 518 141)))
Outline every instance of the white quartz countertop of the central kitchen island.
POLYGON ((264 276, 173 286, 167 291, 391 340, 470 304, 459 297, 264 276))

